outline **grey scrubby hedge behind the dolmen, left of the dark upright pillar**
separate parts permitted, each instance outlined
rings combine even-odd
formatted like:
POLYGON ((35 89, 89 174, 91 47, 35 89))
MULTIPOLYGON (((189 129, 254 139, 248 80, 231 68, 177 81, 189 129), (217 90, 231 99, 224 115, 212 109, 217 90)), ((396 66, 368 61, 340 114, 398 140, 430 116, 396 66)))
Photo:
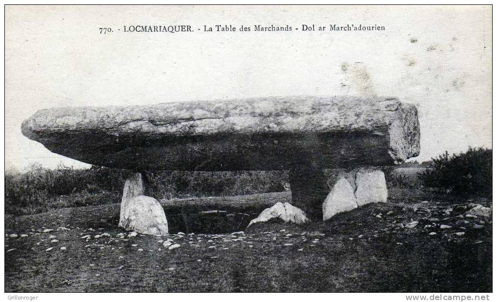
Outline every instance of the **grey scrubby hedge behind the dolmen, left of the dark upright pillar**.
MULTIPOLYGON (((5 213, 23 215, 49 209, 120 202, 131 172, 92 166, 5 172, 5 213)), ((279 192, 285 171, 155 171, 144 174, 147 195, 157 199, 279 192)))

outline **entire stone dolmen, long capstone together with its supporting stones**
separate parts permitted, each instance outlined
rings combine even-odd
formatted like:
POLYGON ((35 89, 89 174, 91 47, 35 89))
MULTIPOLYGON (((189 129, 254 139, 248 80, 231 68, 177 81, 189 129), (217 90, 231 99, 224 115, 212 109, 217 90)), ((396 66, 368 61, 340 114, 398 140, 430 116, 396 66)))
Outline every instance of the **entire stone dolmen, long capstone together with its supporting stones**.
POLYGON ((266 97, 149 106, 40 110, 22 133, 85 163, 130 169, 119 225, 167 233, 159 202, 144 196, 150 170, 288 170, 291 203, 250 224, 280 218, 305 223, 387 201, 379 166, 419 154, 414 105, 392 97, 266 97), (333 175, 329 169, 338 169, 333 175))

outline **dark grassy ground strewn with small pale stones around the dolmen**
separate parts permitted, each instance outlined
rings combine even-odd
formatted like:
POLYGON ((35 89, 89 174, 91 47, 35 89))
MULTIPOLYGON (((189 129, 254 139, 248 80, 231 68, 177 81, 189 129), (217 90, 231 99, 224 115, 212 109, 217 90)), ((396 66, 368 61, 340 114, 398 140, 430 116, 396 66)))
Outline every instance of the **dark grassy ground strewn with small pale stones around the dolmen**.
MULTIPOLYGON (((169 219, 213 209, 253 215, 289 200, 286 192, 163 204, 169 219)), ((388 203, 324 223, 161 238, 127 237, 116 227, 118 204, 7 216, 6 233, 17 237, 5 239, 5 291, 492 292, 492 219, 461 218, 470 202, 491 204, 391 189, 388 203), (167 240, 180 247, 169 250, 167 240)))

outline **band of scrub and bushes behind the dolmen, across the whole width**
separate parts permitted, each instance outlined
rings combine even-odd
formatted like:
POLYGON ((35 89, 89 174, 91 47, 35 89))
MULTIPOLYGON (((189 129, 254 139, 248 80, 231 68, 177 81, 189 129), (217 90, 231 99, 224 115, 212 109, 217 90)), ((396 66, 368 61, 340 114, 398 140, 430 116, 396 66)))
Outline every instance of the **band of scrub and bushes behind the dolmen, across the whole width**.
MULTIPOLYGON (((382 167, 388 187, 432 187, 444 193, 492 194, 492 149, 447 152, 429 162, 382 167)), ((5 172, 5 213, 24 215, 50 209, 118 203, 129 170, 92 166, 5 172)), ((156 171, 144 174, 157 199, 236 196, 288 189, 287 171, 156 171)))

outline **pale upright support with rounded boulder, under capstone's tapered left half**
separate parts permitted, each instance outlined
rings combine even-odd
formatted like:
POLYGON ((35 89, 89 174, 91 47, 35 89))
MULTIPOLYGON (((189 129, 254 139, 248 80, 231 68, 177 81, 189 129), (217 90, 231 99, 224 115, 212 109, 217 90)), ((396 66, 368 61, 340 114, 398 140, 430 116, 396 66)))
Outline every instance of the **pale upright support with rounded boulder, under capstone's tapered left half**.
POLYGON ((145 196, 141 173, 134 173, 124 183, 119 226, 149 235, 167 235, 167 219, 159 201, 145 196))

